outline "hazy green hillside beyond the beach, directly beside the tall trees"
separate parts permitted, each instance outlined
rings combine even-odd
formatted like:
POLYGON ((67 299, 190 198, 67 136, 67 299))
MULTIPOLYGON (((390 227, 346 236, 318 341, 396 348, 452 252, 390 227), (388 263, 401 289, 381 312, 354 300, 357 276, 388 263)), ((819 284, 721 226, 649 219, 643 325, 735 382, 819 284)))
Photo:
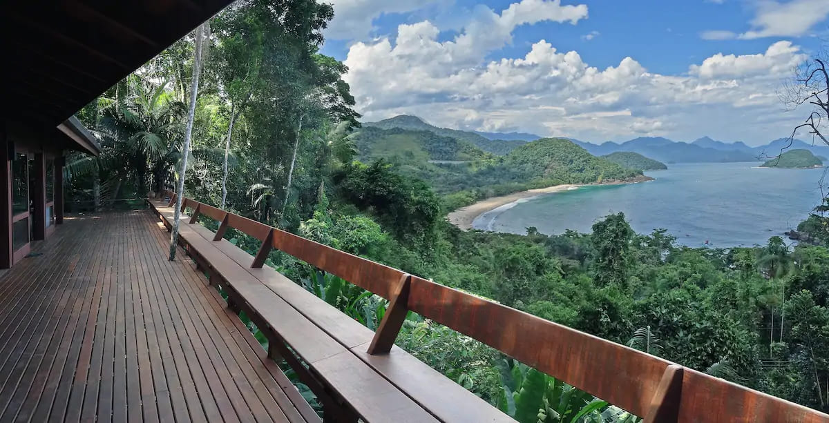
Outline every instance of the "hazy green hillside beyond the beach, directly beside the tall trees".
POLYGON ((434 132, 363 127, 352 140, 360 160, 385 158, 390 161, 473 161, 492 158, 473 144, 434 132))

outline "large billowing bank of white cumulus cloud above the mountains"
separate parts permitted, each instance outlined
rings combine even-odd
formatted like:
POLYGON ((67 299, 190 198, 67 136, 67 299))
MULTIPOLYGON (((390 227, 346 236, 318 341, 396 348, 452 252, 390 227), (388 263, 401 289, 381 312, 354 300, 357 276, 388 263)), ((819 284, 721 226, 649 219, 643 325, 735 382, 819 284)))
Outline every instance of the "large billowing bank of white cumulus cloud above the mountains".
POLYGON ((758 144, 790 131, 787 118, 768 118, 780 113, 780 79, 806 58, 790 41, 754 55, 712 55, 681 75, 653 73, 633 57, 599 68, 545 40, 523 55, 487 60, 517 25, 587 16, 586 7, 527 12, 531 5, 565 7, 523 0, 500 13, 479 8, 451 40, 440 41, 439 28, 424 21, 400 25, 395 41, 356 43, 345 63, 357 108, 367 121, 410 113, 444 127, 591 141, 705 132, 758 144))

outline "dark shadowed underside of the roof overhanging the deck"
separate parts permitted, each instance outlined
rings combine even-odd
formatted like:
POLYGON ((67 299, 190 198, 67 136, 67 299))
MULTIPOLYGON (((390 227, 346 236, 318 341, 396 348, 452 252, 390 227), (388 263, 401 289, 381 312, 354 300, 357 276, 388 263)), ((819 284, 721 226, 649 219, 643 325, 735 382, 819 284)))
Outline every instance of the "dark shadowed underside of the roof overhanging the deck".
POLYGON ((230 2, 2 2, 3 117, 56 127, 230 2))

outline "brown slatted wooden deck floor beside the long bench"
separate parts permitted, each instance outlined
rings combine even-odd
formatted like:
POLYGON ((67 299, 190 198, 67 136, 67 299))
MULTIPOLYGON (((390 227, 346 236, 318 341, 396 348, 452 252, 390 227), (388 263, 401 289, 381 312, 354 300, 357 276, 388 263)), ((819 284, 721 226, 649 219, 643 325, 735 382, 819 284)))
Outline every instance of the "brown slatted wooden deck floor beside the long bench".
POLYGON ((148 210, 0 275, 0 421, 318 421, 148 210))

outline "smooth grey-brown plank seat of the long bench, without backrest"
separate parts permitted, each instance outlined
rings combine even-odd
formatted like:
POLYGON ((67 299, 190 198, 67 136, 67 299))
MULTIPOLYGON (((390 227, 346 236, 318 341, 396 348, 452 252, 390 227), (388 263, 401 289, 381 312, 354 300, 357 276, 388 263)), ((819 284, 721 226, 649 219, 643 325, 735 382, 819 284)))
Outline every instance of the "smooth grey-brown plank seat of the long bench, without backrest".
MULTIPOLYGON (((174 210, 167 207, 167 202, 151 200, 150 203, 167 224, 172 223, 174 210)), ((369 395, 375 395, 374 392, 390 390, 403 393, 405 397, 414 401, 421 411, 428 411, 428 416, 412 415, 413 420, 407 420, 405 416, 409 412, 408 409, 395 408, 388 404, 390 400, 400 399, 395 396, 383 396, 383 406, 395 408, 393 421, 514 422, 510 416, 468 392, 402 348, 393 346, 390 353, 386 354, 367 353, 366 349, 374 337, 371 329, 343 315, 340 310, 328 305, 275 269, 267 265, 259 268, 250 267, 254 257, 249 253, 226 239, 213 241, 213 231, 200 224, 188 224, 188 220, 189 218, 182 217, 179 224, 180 236, 184 238, 185 243, 204 256, 212 267, 219 263, 219 266, 223 267, 221 270, 225 272, 223 274, 218 268, 215 269, 216 272, 233 284, 234 289, 239 285, 244 290, 239 292, 240 295, 257 312, 259 309, 263 311, 262 317, 265 321, 279 322, 274 325, 274 330, 283 336, 286 343, 312 365, 314 371, 334 387, 364 420, 385 421, 384 418, 389 417, 371 406, 374 401, 365 404, 361 401, 365 401, 369 395), (210 257, 203 251, 208 252, 210 257), (225 274, 233 279, 225 277, 225 274), (284 308, 290 310, 282 310, 284 308), (280 310, 274 312, 270 309, 280 310), (356 362, 353 361, 355 359, 356 362), (349 366, 344 367, 342 363, 349 363, 349 366), (351 373, 348 370, 351 366, 371 369, 371 373, 381 377, 385 385, 373 386, 366 391, 366 387, 351 381, 352 378, 359 379, 364 376, 362 373, 359 373, 359 376, 351 373), (345 384, 342 384, 343 382, 345 384), (366 416, 361 409, 375 411, 377 414, 366 416)))

